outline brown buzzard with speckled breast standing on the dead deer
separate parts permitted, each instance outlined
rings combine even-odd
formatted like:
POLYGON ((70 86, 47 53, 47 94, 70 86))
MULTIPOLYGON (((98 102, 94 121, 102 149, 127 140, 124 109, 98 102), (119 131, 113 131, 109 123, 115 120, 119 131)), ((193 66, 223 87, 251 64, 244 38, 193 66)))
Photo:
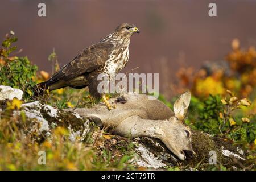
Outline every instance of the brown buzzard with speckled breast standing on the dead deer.
POLYGON ((110 79, 126 66, 129 59, 130 37, 134 33, 139 34, 139 30, 133 24, 120 24, 100 42, 82 50, 49 80, 36 85, 36 94, 46 89, 51 91, 66 86, 81 89, 88 86, 90 94, 93 97, 102 97, 108 109, 111 109, 105 94, 98 93, 97 76, 104 73, 110 79))

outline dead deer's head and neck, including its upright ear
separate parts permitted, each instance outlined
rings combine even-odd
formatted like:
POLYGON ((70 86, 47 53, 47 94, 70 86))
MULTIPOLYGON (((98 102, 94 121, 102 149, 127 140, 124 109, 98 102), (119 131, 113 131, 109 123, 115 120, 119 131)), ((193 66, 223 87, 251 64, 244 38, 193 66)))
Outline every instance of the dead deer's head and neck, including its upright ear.
POLYGON ((115 127, 114 132, 125 137, 158 138, 180 160, 190 159, 195 152, 191 144, 191 131, 188 126, 184 125, 190 99, 190 92, 182 94, 174 104, 174 115, 169 119, 142 119, 134 114, 115 127))

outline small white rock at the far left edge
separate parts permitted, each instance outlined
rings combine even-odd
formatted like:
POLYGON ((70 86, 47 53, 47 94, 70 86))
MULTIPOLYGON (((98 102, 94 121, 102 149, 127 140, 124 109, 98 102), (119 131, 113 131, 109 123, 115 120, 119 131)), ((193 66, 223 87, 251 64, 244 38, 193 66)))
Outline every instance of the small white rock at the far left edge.
POLYGON ((10 86, 0 85, 0 100, 13 100, 14 97, 22 100, 23 91, 10 86))

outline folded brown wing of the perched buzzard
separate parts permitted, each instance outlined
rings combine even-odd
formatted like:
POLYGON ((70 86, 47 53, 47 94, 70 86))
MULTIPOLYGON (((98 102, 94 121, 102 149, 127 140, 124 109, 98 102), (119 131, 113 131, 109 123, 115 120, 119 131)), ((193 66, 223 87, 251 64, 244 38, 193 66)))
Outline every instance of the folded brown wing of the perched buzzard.
POLYGON ((108 60, 112 49, 113 44, 108 42, 100 42, 84 49, 70 63, 53 74, 50 82, 68 81, 94 71, 108 60))

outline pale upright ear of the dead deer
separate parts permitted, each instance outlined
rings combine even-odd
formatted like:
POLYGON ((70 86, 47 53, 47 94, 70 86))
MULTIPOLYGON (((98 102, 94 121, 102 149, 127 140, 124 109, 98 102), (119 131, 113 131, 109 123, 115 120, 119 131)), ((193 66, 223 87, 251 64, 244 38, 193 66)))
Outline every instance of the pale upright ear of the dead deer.
POLYGON ((191 93, 189 91, 181 94, 181 96, 174 103, 174 114, 179 119, 184 119, 187 113, 191 93))

